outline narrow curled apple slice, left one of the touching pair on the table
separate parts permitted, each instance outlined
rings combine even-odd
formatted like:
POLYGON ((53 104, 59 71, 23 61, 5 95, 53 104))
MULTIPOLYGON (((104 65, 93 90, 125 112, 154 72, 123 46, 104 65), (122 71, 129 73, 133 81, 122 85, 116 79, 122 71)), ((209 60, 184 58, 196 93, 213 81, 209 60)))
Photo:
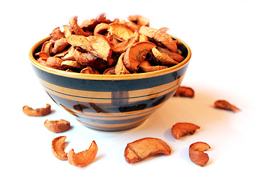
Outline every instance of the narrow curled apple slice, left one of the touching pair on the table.
POLYGON ((51 145, 54 156, 62 161, 68 160, 68 153, 65 149, 65 136, 56 137, 51 145))

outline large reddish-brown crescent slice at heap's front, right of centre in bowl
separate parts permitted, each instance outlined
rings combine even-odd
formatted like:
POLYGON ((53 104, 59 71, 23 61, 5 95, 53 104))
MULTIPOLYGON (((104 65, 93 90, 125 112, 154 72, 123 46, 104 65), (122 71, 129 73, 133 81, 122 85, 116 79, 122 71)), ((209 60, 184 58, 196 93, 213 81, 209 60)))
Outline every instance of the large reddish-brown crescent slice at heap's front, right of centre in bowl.
POLYGON ((152 42, 137 42, 124 53, 124 64, 129 72, 137 72, 139 64, 145 59, 146 54, 156 45, 152 42))

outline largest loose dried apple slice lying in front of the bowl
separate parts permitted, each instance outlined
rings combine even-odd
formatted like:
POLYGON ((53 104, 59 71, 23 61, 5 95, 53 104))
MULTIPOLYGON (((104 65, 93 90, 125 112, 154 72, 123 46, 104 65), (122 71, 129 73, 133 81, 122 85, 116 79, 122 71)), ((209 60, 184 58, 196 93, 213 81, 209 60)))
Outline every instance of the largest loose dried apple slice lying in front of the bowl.
POLYGON ((124 158, 127 163, 139 162, 154 154, 171 154, 171 147, 163 140, 154 137, 145 137, 127 144, 124 158))

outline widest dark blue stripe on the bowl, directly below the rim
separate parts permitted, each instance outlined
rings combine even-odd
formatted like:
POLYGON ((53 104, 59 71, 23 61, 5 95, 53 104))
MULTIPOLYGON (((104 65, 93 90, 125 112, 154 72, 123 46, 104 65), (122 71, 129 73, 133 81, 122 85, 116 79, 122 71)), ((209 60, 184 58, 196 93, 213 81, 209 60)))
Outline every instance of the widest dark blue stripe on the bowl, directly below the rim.
MULTIPOLYGON (((139 89, 147 89, 154 86, 160 86, 162 84, 168 84, 171 81, 175 81, 179 77, 185 74, 187 66, 164 74, 159 77, 149 77, 144 79, 129 79, 129 80, 92 80, 92 79, 74 79, 70 77, 62 77, 57 74, 51 74, 44 72, 41 69, 33 66, 37 76, 50 84, 57 86, 63 86, 70 89, 87 90, 87 91, 132 91, 139 89), (104 86, 102 86, 104 84, 104 86), (143 84, 143 86, 141 85, 143 84)), ((64 71, 63 71, 64 72, 64 71)))

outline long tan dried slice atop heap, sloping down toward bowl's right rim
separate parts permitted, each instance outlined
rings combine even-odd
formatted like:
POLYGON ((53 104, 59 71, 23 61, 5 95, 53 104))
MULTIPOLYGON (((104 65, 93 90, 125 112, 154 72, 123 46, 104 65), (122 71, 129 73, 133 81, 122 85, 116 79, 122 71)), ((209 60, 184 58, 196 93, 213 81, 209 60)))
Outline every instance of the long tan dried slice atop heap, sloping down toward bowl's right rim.
POLYGON ((164 33, 161 30, 147 26, 141 26, 141 28, 139 28, 139 33, 144 34, 149 38, 153 38, 158 42, 161 42, 161 44, 171 50, 171 52, 177 51, 176 42, 171 38, 171 35, 164 33))

